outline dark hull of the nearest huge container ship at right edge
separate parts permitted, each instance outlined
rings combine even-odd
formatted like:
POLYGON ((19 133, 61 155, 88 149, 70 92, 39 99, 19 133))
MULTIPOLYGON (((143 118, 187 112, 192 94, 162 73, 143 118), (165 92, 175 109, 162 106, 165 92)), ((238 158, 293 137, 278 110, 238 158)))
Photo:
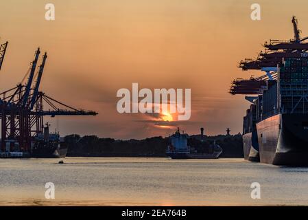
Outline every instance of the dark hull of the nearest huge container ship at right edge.
POLYGON ((308 114, 277 114, 257 123, 260 161, 308 166, 308 114))

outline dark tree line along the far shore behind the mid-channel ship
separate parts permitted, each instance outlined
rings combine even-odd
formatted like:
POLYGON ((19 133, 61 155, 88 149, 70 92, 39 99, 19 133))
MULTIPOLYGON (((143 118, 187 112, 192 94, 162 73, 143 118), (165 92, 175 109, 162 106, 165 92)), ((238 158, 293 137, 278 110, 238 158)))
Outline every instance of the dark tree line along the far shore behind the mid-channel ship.
MULTIPOLYGON (((191 135, 187 144, 198 153, 211 152, 215 142, 222 148, 222 158, 242 158, 243 141, 237 135, 191 135)), ((165 154, 169 137, 148 137, 143 140, 115 140, 95 135, 67 135, 64 137, 67 157, 167 157, 165 154)))

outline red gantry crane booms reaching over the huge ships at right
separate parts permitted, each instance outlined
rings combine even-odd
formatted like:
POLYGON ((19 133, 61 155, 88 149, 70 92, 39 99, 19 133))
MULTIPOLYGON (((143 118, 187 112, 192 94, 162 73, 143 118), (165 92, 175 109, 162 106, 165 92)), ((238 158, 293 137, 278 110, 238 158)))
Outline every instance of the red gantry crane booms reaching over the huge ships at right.
MULTIPOLYGON (((261 70, 266 74, 257 78, 251 76, 248 79, 236 78, 231 83, 229 93, 232 95, 261 95, 266 89, 267 80, 277 79, 277 66, 281 65, 286 58, 308 57, 308 43, 305 42, 308 36, 301 38, 296 17, 292 17, 294 39, 288 41, 270 40, 265 42, 264 52, 260 52, 257 58, 246 58, 239 62, 238 67, 244 71, 261 70)), ((246 98, 251 100, 251 98, 246 98)))

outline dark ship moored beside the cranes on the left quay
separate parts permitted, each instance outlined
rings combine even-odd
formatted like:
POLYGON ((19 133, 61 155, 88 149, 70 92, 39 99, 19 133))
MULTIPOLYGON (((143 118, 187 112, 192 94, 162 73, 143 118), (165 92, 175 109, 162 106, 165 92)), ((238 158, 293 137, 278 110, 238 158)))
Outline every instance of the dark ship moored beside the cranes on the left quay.
POLYGON ((59 133, 49 133, 50 124, 47 122, 44 133, 35 137, 31 157, 62 158, 67 155, 67 146, 61 140, 59 133))

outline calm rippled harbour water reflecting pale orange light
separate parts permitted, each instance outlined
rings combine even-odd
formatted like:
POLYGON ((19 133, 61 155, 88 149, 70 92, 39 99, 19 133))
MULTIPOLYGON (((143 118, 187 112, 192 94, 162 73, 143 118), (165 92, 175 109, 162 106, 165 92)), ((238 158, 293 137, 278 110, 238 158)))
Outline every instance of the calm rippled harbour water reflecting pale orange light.
POLYGON ((0 205, 254 206, 308 205, 308 168, 244 159, 0 159, 0 205), (250 184, 261 184, 251 199, 250 184), (45 199, 45 184, 56 199, 45 199))

